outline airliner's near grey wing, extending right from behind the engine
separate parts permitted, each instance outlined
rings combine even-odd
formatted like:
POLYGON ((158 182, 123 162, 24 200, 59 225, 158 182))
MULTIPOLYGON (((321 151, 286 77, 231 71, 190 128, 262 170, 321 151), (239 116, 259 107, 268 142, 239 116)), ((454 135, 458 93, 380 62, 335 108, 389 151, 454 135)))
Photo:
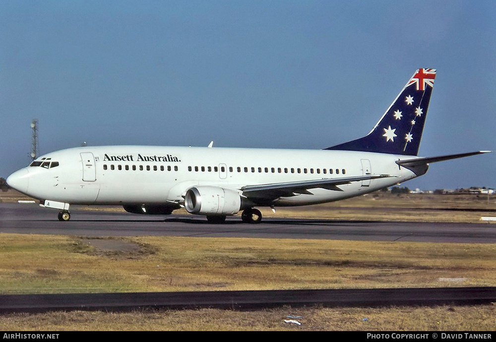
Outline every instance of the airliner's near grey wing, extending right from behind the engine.
POLYGON ((341 177, 341 178, 326 178, 316 179, 311 181, 287 182, 287 183, 272 183, 261 185, 248 185, 241 188, 243 196, 248 198, 265 198, 275 199, 278 197, 289 197, 300 194, 313 195, 309 189, 322 188, 334 191, 343 191, 338 186, 350 184, 352 182, 360 182, 376 178, 395 177, 391 175, 366 175, 356 177, 341 177))

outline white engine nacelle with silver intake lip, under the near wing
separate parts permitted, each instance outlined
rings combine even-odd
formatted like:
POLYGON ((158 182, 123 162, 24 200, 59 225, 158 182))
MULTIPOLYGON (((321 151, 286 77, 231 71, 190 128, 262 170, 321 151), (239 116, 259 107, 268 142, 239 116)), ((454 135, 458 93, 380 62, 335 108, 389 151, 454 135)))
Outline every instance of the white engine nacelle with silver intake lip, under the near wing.
POLYGON ((185 207, 191 214, 236 215, 241 209, 241 196, 219 187, 194 187, 186 191, 185 207))

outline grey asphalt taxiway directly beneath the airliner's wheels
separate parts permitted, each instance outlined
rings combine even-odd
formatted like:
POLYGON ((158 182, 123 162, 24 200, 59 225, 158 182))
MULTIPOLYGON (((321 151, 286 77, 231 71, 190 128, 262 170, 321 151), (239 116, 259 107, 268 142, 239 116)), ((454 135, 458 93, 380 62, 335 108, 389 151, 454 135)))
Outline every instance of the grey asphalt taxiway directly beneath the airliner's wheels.
POLYGON ((260 224, 228 217, 223 224, 193 215, 136 215, 71 208, 60 222, 57 210, 35 204, 0 203, 0 232, 78 236, 190 236, 496 243, 494 223, 418 223, 264 218, 260 224))

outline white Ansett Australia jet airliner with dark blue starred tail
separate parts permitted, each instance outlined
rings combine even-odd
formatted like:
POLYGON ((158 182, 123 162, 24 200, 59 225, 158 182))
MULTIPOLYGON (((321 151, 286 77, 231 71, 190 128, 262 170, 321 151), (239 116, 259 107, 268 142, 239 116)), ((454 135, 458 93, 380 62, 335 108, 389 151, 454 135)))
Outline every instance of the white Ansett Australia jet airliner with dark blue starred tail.
POLYGON ((433 162, 491 151, 419 157, 436 70, 419 68, 364 137, 320 150, 84 146, 36 158, 7 178, 17 191, 60 210, 122 205, 136 214, 185 207, 220 223, 256 206, 314 205, 361 196, 424 175, 433 162))

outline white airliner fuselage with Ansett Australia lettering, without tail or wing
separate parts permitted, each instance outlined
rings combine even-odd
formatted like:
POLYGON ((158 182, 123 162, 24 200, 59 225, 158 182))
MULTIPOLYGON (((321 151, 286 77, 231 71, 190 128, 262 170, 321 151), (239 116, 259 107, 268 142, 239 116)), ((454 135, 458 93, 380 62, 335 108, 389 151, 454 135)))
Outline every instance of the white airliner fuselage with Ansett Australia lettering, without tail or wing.
POLYGON ((359 196, 417 177, 395 163, 400 159, 405 156, 335 150, 78 147, 37 158, 41 165, 16 171, 9 179, 15 180, 10 182, 15 189, 40 200, 140 205, 182 204, 186 191, 194 186, 232 189, 242 195, 242 187, 259 184, 366 174, 393 176, 340 185, 343 191, 315 188, 311 194, 280 197, 271 203, 311 205, 359 196))

